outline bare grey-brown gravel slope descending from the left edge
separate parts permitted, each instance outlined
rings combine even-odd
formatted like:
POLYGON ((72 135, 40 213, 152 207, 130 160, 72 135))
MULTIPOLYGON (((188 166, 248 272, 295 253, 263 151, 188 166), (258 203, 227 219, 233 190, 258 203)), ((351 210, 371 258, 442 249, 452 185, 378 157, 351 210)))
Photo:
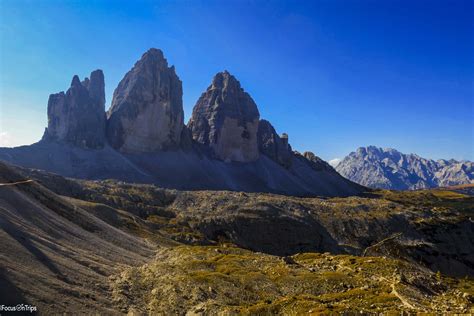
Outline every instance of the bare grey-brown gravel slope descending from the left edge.
MULTIPOLYGON (((0 164, 0 183, 24 180, 0 164)), ((0 187, 0 300, 42 314, 114 313, 109 275, 143 264, 150 245, 37 184, 0 187)))

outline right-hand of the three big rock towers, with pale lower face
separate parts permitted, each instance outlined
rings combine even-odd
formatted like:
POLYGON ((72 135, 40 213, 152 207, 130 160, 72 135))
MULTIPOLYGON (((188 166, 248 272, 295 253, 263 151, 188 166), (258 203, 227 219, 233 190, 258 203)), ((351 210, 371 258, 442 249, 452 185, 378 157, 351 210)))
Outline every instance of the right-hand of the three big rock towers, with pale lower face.
POLYGON ((218 73, 197 101, 188 127, 193 139, 209 146, 224 161, 255 161, 259 157, 260 114, 250 95, 227 71, 218 73))

